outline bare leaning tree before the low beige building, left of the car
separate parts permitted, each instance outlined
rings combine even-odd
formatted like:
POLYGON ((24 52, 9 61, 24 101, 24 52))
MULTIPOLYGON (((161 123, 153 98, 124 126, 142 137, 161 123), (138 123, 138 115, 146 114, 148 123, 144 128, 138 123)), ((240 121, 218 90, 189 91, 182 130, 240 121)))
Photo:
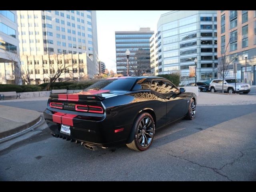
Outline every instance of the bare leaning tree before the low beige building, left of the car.
MULTIPOLYGON (((48 54, 48 58, 49 58, 49 68, 50 68, 50 73, 47 74, 47 76, 49 77, 50 81, 47 84, 45 90, 49 90, 50 86, 52 85, 52 83, 54 83, 62 73, 64 73, 65 70, 67 70, 67 68, 69 68, 70 66, 72 66, 72 64, 69 64, 68 61, 72 60, 72 59, 68 59, 65 58, 64 62, 62 61, 62 55, 60 54, 53 54, 54 60, 57 63, 57 69, 56 69, 56 65, 54 64, 54 60, 50 59, 50 54, 48 54)), ((72 61, 73 63, 73 61, 72 61)))

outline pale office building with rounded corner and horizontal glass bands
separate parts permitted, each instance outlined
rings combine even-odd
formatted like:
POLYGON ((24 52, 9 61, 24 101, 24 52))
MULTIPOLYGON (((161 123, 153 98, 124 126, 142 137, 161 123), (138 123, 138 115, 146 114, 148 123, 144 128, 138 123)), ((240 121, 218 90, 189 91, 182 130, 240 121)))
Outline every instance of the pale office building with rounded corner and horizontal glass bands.
POLYGON ((197 79, 217 77, 217 14, 212 10, 174 10, 160 16, 155 39, 151 38, 151 65, 156 75, 181 72, 189 77, 189 66, 197 58, 197 79))

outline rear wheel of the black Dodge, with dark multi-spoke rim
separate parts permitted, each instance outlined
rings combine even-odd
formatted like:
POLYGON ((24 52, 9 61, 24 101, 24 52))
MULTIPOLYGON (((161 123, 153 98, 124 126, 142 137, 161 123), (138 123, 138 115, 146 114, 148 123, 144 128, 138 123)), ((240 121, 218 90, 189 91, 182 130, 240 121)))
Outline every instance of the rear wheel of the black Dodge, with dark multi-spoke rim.
POLYGON ((155 134, 155 123, 152 116, 146 112, 140 114, 132 129, 135 129, 134 140, 126 146, 136 151, 147 150, 152 144, 155 134))

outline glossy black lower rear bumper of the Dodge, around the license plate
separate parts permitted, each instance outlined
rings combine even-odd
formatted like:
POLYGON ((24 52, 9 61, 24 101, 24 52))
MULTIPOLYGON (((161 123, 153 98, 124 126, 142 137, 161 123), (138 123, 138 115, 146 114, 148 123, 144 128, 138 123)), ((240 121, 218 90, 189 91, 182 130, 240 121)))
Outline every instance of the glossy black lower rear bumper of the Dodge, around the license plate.
POLYGON ((123 131, 115 132, 115 130, 121 127, 116 127, 112 118, 105 118, 103 121, 74 118, 72 120, 73 125, 69 126, 70 135, 68 135, 60 132, 62 124, 54 122, 52 116, 52 111, 44 111, 44 118, 53 134, 92 146, 110 147, 119 143, 125 143, 131 129, 131 125, 126 125, 122 126, 124 128, 123 131))

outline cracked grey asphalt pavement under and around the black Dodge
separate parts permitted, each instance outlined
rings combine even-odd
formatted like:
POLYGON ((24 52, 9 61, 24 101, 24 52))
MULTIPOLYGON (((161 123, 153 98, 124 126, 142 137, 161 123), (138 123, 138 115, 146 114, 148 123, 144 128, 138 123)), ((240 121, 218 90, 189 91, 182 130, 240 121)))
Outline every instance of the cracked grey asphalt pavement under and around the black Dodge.
POLYGON ((91 151, 44 129, 0 152, 0 180, 253 181, 255 116, 256 104, 198 105, 194 120, 157 130, 145 152, 91 151))

